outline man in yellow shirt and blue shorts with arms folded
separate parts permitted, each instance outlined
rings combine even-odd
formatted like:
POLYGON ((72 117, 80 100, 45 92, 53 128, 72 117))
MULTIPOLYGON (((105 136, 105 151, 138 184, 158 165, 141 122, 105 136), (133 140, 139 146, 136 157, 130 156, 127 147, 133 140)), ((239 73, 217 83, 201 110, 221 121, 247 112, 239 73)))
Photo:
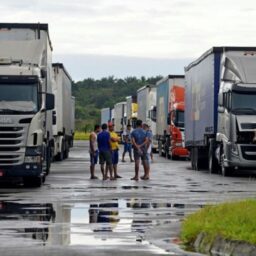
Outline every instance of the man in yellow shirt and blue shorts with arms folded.
POLYGON ((108 124, 108 130, 110 133, 110 144, 111 144, 111 151, 112 151, 112 164, 113 164, 113 170, 114 170, 114 178, 122 178, 117 174, 117 164, 119 160, 119 144, 120 138, 118 137, 117 133, 114 131, 114 124, 109 123, 108 124))

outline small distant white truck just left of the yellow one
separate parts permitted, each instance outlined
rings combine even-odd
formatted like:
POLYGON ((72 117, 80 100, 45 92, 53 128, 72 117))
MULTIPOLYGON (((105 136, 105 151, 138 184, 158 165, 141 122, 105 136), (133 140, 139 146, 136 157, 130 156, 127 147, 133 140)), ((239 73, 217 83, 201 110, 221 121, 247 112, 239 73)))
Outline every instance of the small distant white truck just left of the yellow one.
POLYGON ((115 109, 115 119, 114 119, 115 132, 121 135, 126 126, 126 111, 127 111, 126 101, 116 103, 114 109, 115 109))

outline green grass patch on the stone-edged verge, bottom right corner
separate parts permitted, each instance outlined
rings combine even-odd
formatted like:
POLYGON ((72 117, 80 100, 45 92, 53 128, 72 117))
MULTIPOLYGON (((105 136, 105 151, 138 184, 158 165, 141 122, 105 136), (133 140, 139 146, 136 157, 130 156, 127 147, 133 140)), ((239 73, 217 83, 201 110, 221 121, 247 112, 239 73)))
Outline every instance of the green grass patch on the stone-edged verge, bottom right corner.
POLYGON ((211 240, 221 236, 256 244, 256 200, 207 206, 191 214, 182 224, 181 239, 192 245, 201 232, 211 240))

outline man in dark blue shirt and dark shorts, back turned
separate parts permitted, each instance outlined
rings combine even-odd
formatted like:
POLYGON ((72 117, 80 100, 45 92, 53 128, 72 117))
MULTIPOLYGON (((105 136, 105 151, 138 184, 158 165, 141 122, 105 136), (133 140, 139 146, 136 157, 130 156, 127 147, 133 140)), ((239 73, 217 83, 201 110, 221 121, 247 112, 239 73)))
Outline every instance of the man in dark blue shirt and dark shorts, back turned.
POLYGON ((112 167, 112 156, 111 156, 111 138, 107 131, 107 124, 102 124, 102 131, 97 136, 100 168, 103 180, 106 180, 108 170, 110 172, 110 179, 113 180, 113 167, 112 167), (104 170, 104 164, 106 163, 106 170, 104 170))

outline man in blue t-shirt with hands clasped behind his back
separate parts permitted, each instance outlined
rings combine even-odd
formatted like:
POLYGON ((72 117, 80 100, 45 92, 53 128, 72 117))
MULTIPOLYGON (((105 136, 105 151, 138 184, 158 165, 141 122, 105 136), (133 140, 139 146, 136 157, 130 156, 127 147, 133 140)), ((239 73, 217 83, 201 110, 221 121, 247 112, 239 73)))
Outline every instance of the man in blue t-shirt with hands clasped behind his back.
POLYGON ((148 144, 148 138, 146 132, 142 129, 142 121, 136 121, 136 129, 131 133, 132 144, 134 147, 134 160, 135 160, 135 176, 131 180, 139 179, 139 168, 140 159, 144 167, 144 175, 141 177, 143 180, 149 179, 148 174, 148 161, 147 161, 147 151, 146 145, 148 144))

